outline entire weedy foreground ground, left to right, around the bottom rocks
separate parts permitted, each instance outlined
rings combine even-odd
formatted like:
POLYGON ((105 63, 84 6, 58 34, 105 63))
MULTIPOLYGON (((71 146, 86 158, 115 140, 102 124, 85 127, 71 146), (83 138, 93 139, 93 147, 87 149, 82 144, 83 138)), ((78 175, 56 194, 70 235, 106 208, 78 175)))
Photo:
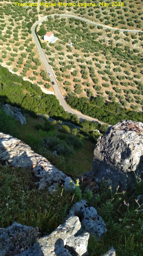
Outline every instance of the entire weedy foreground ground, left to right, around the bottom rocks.
POLYGON ((38 226, 42 234, 49 234, 64 222, 73 202, 84 198, 96 208, 108 230, 98 241, 93 235, 90 237, 90 256, 101 256, 111 246, 117 256, 142 255, 143 211, 136 199, 141 194, 142 182, 138 177, 132 199, 125 191, 118 192, 119 187, 113 193, 112 187, 107 188, 104 181, 100 185, 100 194, 92 195, 90 190, 83 193, 77 180, 73 191, 57 187, 57 191, 50 195, 47 188, 39 191, 34 179, 30 169, 0 166, 0 227, 17 221, 22 225, 38 226))

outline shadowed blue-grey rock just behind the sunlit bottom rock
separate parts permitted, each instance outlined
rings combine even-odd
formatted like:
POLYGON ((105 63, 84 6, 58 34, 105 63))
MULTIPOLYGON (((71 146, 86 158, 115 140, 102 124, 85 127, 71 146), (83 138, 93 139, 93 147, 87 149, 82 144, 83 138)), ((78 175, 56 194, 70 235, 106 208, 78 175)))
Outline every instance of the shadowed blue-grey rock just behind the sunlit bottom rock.
MULTIPOLYGON (((78 216, 81 218, 82 229, 80 232, 88 232, 94 234, 96 238, 100 238, 107 232, 106 224, 97 214, 94 207, 88 207, 86 200, 81 200, 74 204, 74 207, 69 211, 69 216, 78 216)), ((80 233, 78 232, 78 234, 80 233)))

